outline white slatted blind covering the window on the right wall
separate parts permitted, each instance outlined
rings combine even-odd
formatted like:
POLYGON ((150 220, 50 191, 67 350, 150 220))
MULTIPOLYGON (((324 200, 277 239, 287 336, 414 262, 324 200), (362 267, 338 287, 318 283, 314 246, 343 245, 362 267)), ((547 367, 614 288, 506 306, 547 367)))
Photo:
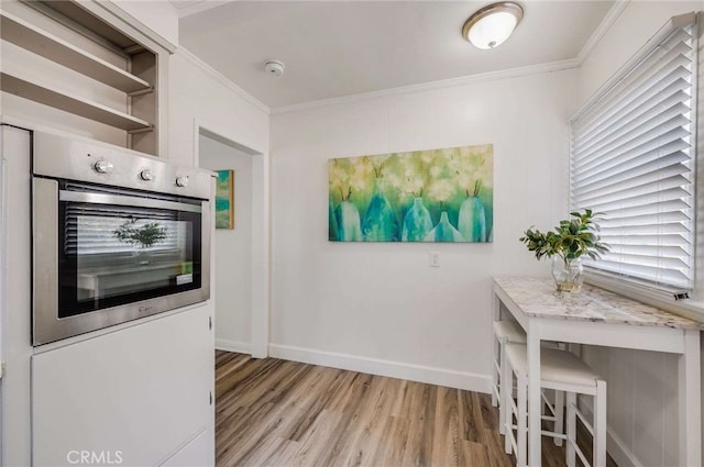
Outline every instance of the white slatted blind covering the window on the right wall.
MULTIPOLYGON (((694 15, 692 15, 694 16, 694 15)), ((694 275, 693 18, 644 51, 571 122, 570 201, 601 212, 588 268, 661 288, 694 275)))

